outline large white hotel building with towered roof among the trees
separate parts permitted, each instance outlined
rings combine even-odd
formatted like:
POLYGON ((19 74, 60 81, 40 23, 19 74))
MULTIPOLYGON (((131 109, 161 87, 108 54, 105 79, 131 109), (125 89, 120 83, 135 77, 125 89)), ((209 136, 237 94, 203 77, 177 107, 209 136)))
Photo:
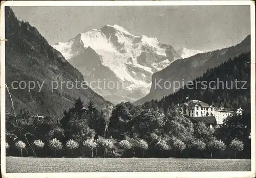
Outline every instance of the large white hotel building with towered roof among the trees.
POLYGON ((177 104, 174 106, 174 109, 181 111, 185 116, 189 116, 210 126, 214 124, 215 119, 217 124, 222 124, 223 119, 233 113, 230 109, 218 108, 214 104, 208 105, 200 100, 189 100, 186 103, 177 104))

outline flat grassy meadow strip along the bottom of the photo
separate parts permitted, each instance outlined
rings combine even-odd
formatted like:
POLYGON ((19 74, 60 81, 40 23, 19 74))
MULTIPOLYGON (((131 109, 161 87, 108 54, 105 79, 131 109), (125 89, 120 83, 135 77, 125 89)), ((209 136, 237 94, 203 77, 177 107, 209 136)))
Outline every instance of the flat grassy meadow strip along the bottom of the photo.
POLYGON ((250 171, 245 159, 6 157, 6 172, 250 171))

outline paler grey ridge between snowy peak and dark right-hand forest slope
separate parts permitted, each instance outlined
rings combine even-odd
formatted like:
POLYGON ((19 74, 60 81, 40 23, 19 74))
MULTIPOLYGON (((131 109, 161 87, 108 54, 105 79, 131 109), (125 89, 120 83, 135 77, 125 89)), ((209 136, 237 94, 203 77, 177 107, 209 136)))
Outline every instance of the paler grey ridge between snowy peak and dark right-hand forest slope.
POLYGON ((146 101, 161 99, 163 96, 174 93, 179 90, 178 87, 174 88, 174 82, 180 82, 180 84, 182 84, 182 81, 186 83, 194 80, 203 75, 207 69, 217 67, 223 62, 226 62, 229 58, 233 59, 234 57, 237 57, 242 53, 248 53, 249 51, 250 35, 237 45, 214 50, 212 52, 197 54, 185 59, 178 59, 168 67, 153 74, 150 93, 137 100, 135 104, 141 105, 146 101), (167 87, 161 89, 158 85, 155 86, 155 81, 156 83, 160 81, 158 84, 162 88, 165 81, 170 82, 172 86, 170 88, 167 87))

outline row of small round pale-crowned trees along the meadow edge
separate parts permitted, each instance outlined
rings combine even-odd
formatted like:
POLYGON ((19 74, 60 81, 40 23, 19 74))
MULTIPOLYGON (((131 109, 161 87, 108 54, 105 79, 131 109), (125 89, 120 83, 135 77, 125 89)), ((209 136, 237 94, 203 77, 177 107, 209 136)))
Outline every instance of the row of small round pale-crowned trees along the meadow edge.
MULTIPOLYGON (((186 148, 186 145, 184 144, 184 142, 178 139, 172 140, 171 143, 168 143, 163 139, 157 139, 156 135, 152 135, 152 137, 154 140, 154 144, 153 144, 154 147, 159 149, 162 152, 162 156, 163 156, 163 151, 171 150, 172 146, 174 147, 175 152, 176 150, 179 152, 182 152, 186 148)), ((32 146, 36 150, 37 154, 39 154, 39 152, 43 150, 44 145, 45 143, 42 142, 41 140, 34 140, 32 142, 32 146)), ((80 145, 77 141, 68 140, 66 143, 66 149, 68 151, 68 155, 74 156, 74 152, 78 151, 79 146, 80 145)), ((88 139, 86 141, 83 141, 81 146, 82 148, 84 148, 84 151, 80 151, 80 154, 77 154, 77 155, 87 156, 87 157, 97 157, 98 156, 97 151, 101 149, 103 150, 103 155, 100 155, 100 156, 102 156, 103 158, 121 156, 116 152, 118 146, 120 148, 123 148, 124 156, 127 156, 126 152, 128 151, 132 151, 133 156, 135 156, 135 150, 139 150, 139 151, 142 151, 143 158, 145 157, 145 151, 148 149, 148 144, 145 140, 143 139, 135 140, 131 138, 117 142, 117 140, 114 140, 114 139, 104 139, 102 137, 99 137, 97 140, 88 139), (94 154, 94 150, 96 150, 96 154, 94 154)), ((8 142, 6 142, 7 153, 8 153, 9 147, 10 146, 8 142)), ((15 143, 15 147, 20 151, 20 156, 23 157, 23 149, 25 149, 26 143, 19 140, 15 143)), ((63 144, 59 140, 54 138, 49 141, 49 147, 54 151, 54 156, 57 157, 58 151, 61 151, 63 149, 63 144)), ((234 139, 229 144, 229 147, 235 151, 235 158, 237 158, 237 152, 243 150, 244 144, 242 143, 242 141, 234 139)), ((212 158, 212 152, 223 151, 225 150, 226 145, 221 140, 216 140, 216 139, 208 142, 208 145, 206 145, 201 140, 195 140, 193 143, 191 143, 190 148, 194 148, 199 151, 208 149, 210 150, 210 154, 212 158)))

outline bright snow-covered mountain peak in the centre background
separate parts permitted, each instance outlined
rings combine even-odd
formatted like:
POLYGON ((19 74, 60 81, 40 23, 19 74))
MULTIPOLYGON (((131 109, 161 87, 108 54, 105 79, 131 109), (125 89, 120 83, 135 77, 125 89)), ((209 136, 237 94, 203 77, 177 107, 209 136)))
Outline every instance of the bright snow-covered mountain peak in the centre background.
MULTIPOLYGON (((173 61, 181 58, 173 46, 162 44, 155 37, 145 35, 136 36, 126 31, 124 28, 114 24, 105 25, 101 29, 91 29, 88 32, 80 33, 68 42, 58 43, 53 47, 72 63, 78 69, 86 66, 76 66, 85 64, 75 62, 83 60, 84 50, 88 47, 94 50, 100 60, 87 59, 92 63, 89 66, 105 66, 109 68, 108 74, 102 74, 108 79, 118 78, 125 84, 125 88, 119 91, 119 95, 136 100, 143 97, 150 91, 151 77, 156 71, 162 70, 173 61), (79 57, 78 57, 79 56, 79 57), (111 77, 108 75, 115 75, 111 77)), ((96 56, 96 55, 90 55, 96 56)), ((95 72, 100 69, 82 70, 84 75, 97 75, 95 72)), ((99 75, 97 75, 99 76, 99 75)), ((86 78, 86 77, 85 77, 86 78)), ((106 91, 104 91, 106 93, 106 91)), ((102 93, 99 93, 102 94, 102 93)), ((109 96, 117 93, 110 91, 109 96)), ((102 94, 104 96, 104 94, 102 94)), ((121 100, 121 99, 120 99, 121 100)))

